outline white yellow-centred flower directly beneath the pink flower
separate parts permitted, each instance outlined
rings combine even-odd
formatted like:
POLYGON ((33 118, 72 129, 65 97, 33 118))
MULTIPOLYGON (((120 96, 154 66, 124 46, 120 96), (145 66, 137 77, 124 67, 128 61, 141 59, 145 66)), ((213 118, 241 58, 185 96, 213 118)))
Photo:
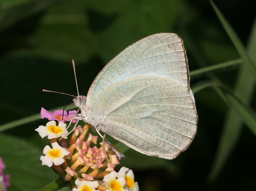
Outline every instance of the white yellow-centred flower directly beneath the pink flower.
POLYGON ((39 126, 35 131, 39 133, 39 135, 44 138, 48 136, 48 139, 58 138, 63 135, 63 138, 67 138, 68 131, 66 130, 67 124, 63 122, 59 122, 59 125, 56 125, 56 121, 49 121, 46 126, 39 126))

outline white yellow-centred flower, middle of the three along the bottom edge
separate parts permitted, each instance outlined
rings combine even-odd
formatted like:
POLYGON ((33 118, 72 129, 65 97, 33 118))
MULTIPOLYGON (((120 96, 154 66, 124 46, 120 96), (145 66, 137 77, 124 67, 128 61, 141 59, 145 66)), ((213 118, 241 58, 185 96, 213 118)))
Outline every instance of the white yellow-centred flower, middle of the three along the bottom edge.
POLYGON ((105 175, 103 181, 108 187, 107 191, 126 191, 124 186, 126 186, 126 181, 124 177, 117 178, 117 172, 111 171, 108 175, 105 175))

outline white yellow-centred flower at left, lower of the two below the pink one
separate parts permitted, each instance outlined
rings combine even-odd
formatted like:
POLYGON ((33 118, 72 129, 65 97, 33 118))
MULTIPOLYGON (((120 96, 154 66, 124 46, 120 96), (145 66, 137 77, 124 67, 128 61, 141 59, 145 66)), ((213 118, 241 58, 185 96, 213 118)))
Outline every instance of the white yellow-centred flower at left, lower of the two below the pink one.
POLYGON ((65 161, 64 156, 69 155, 69 151, 59 146, 57 142, 52 143, 52 148, 48 145, 45 146, 43 153, 45 156, 41 156, 40 160, 42 165, 47 165, 48 167, 54 165, 61 165, 65 161))

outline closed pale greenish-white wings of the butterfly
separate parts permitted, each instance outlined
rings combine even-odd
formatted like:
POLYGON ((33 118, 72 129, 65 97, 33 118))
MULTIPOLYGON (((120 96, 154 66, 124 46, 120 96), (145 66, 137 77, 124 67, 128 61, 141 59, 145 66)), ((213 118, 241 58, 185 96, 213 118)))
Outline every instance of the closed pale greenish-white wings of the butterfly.
POLYGON ((96 76, 80 109, 86 122, 132 149, 175 158, 197 129, 182 39, 158 33, 128 46, 96 76))

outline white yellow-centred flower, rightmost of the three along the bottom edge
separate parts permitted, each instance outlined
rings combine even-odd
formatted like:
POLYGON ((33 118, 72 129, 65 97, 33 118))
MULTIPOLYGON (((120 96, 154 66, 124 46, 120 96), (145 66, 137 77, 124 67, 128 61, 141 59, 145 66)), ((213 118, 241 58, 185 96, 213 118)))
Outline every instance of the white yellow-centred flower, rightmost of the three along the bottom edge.
POLYGON ((134 173, 126 167, 122 167, 117 175, 117 178, 124 177, 126 180, 125 189, 127 191, 139 191, 139 186, 137 182, 134 182, 134 173))

